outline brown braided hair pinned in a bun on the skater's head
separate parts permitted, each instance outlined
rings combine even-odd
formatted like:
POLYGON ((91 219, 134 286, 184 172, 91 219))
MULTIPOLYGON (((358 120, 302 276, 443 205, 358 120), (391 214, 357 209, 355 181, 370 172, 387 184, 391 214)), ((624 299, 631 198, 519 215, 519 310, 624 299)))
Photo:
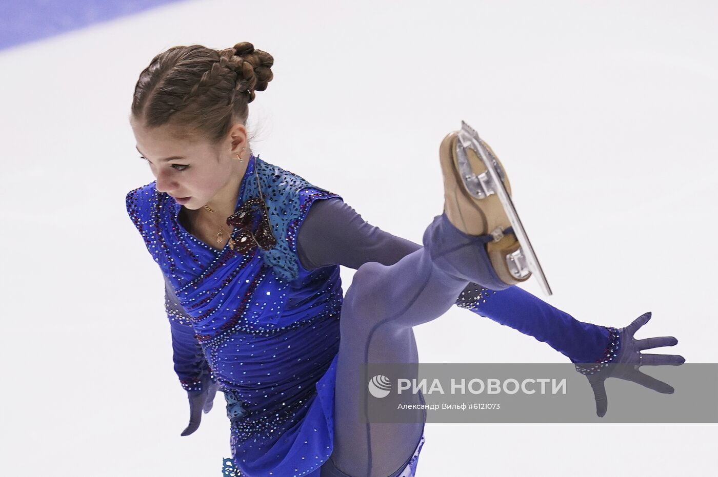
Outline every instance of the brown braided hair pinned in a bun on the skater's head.
POLYGON ((169 125, 176 136, 218 143, 233 123, 246 124, 248 104, 274 75, 274 57, 250 42, 227 49, 200 44, 172 47, 142 70, 131 118, 146 128, 169 125))

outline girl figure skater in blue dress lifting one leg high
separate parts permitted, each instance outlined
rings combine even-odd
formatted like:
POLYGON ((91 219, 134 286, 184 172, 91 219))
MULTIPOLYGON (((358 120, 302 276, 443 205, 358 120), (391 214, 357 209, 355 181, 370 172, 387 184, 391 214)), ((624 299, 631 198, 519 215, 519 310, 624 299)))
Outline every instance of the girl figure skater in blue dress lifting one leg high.
MULTIPOLYGON (((174 369, 190 401, 182 435, 197 429, 220 389, 243 476, 413 476, 424 422, 360 422, 360 364, 416 363, 412 326, 452 304, 574 363, 596 363, 577 369, 592 379, 599 415, 605 364, 640 364, 639 349, 677 342, 633 339, 650 313, 617 330, 577 321, 514 286, 488 257, 493 237, 477 233, 485 217, 444 159, 452 200, 421 247, 255 156, 248 103, 266 89, 273 63, 248 42, 173 47, 141 72, 134 92, 130 122, 156 181, 129 192, 126 205, 164 276, 174 369), (345 297, 339 265, 357 270, 345 297)), ((658 383, 640 384, 669 392, 658 383)))

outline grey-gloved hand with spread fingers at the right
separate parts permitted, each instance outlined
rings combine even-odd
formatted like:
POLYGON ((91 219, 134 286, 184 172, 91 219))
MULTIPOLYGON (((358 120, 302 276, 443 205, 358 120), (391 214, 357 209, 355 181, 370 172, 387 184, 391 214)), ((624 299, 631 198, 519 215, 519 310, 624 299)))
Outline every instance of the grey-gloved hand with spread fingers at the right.
POLYGON ((603 417, 608 408, 608 397, 606 396, 606 388, 604 382, 609 377, 617 377, 626 381, 633 381, 642 386, 648 387, 658 392, 672 394, 675 389, 671 385, 648 376, 638 371, 638 368, 648 365, 668 364, 671 366, 679 366, 684 364, 686 359, 679 354, 648 354, 640 353, 642 349, 660 348, 661 346, 675 346, 678 340, 673 336, 658 336, 646 339, 635 339, 635 334, 641 326, 648 323, 651 319, 651 312, 643 313, 636 318, 633 323, 625 328, 619 329, 618 352, 615 358, 599 372, 594 374, 586 374, 589 383, 593 389, 596 399, 596 415, 603 417), (630 366, 633 364, 633 366, 630 366))

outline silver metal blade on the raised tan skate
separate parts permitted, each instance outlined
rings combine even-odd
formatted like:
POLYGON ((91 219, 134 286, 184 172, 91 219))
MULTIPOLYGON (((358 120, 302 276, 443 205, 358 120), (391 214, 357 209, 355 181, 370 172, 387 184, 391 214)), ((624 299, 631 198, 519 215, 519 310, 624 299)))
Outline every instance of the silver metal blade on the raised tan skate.
MULTIPOLYGON (((496 161, 496 158, 491 154, 489 148, 485 146, 485 143, 481 140, 478 133, 464 121, 461 122, 461 129, 456 141, 455 154, 459 173, 467 192, 476 199, 484 199, 491 194, 496 194, 511 223, 513 234, 516 235, 516 240, 518 240, 520 245, 516 252, 506 255, 506 264, 508 265, 511 275, 517 280, 520 280, 526 277, 528 273, 533 273, 533 275, 538 278, 538 283, 541 285, 541 289, 544 293, 546 293, 547 296, 553 295, 549 282, 546 280, 546 275, 544 275, 544 270, 541 269, 541 264, 538 263, 538 257, 536 257, 536 253, 533 251, 533 247, 531 247, 531 242, 528 240, 526 230, 523 229, 521 219, 518 217, 518 212, 516 212, 516 208, 513 207, 511 197, 503 184, 505 172, 499 166, 498 161, 496 161), (479 156, 487 169, 486 172, 479 175, 474 174, 467 156, 467 148, 472 149, 472 151, 475 151, 477 156, 479 156)), ((495 230, 491 232, 491 235, 494 236, 494 241, 496 242, 503 237, 503 232, 495 230)))

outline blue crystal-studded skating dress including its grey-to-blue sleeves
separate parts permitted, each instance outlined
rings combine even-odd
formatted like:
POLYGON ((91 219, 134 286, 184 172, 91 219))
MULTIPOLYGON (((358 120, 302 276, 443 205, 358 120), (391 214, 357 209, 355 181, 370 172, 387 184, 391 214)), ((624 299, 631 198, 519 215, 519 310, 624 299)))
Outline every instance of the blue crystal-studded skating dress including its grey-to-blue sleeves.
MULTIPOLYGON (((233 463, 243 476, 319 477, 333 449, 342 308, 337 263, 389 265, 420 245, 370 226, 337 194, 252 155, 235 215, 253 216, 256 209, 247 206, 264 202, 274 242, 243 247, 246 230, 239 228, 217 250, 187 232, 182 206, 155 184, 130 191, 126 206, 172 296, 166 305, 182 387, 202 389, 207 373, 219 382, 233 463), (319 200, 332 198, 339 200, 319 200), (316 265, 307 270, 297 233, 315 202, 323 211, 308 230, 317 240, 304 245, 314 244, 318 261, 305 261, 316 265)), ((256 232, 264 237, 261 227, 256 232)), ((470 283, 456 303, 550 344, 573 362, 599 362, 609 349, 605 327, 577 321, 516 286, 488 291, 470 283)), ((406 475, 413 475, 423 442, 406 475)))

